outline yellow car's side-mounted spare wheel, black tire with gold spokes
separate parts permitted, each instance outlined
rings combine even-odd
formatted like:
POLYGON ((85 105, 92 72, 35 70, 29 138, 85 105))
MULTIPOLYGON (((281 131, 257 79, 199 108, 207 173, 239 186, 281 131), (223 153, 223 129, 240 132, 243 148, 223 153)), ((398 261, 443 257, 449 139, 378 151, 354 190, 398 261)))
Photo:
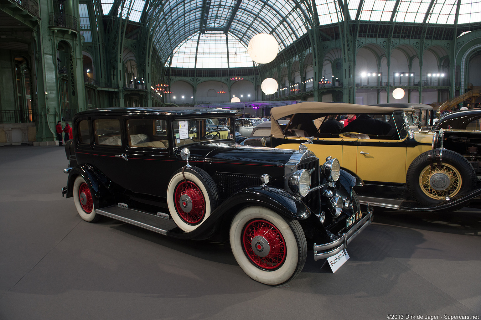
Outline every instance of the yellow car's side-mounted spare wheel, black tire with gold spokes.
POLYGON ((438 164, 434 150, 420 154, 411 163, 406 174, 407 188, 418 202, 435 205, 462 195, 476 185, 476 173, 461 154, 443 149, 438 164))

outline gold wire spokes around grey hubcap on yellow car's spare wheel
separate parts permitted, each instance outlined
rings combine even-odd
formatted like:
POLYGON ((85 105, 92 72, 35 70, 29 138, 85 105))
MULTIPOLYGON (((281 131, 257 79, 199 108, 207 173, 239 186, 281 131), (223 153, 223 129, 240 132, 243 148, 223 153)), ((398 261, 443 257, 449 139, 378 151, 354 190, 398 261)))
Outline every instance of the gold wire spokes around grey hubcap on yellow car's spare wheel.
POLYGON ((419 186, 421 190, 430 198, 436 200, 444 200, 446 195, 450 198, 455 196, 461 189, 462 179, 459 171, 451 165, 443 163, 441 167, 426 166, 421 170, 419 175, 419 186), (431 186, 430 179, 435 175, 445 175, 449 178, 449 186, 443 190, 436 190, 431 186))

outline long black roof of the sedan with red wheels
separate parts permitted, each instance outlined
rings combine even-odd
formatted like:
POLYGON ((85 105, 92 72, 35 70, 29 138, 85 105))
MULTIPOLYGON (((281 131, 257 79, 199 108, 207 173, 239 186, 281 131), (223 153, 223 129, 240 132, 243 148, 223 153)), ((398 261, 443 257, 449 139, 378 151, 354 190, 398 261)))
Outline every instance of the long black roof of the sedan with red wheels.
POLYGON ((78 115, 209 115, 233 116, 236 110, 215 108, 150 107, 150 108, 100 108, 81 111, 78 115))

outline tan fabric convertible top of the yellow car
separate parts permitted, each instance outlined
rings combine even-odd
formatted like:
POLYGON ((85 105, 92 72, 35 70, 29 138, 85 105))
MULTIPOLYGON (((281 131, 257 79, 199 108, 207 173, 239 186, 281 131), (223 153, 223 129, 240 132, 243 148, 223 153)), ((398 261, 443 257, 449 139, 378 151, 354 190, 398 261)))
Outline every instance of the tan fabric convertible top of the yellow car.
POLYGON ((272 126, 271 133, 274 137, 283 137, 284 133, 277 125, 277 120, 293 114, 329 114, 329 115, 349 115, 349 114, 390 114, 394 111, 416 112, 411 108, 393 108, 362 105, 354 103, 336 102, 301 102, 280 107, 271 108, 272 126))

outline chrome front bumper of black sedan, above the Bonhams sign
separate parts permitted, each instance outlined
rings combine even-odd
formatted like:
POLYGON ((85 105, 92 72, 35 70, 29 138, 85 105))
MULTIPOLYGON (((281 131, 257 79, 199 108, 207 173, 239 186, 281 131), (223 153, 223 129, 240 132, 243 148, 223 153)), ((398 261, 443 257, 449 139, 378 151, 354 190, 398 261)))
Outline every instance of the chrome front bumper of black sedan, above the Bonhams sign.
POLYGON ((339 239, 318 245, 314 243, 314 260, 326 259, 329 258, 329 256, 337 255, 341 250, 344 250, 362 230, 371 224, 373 218, 372 212, 368 212, 364 218, 357 221, 357 223, 349 231, 343 233, 339 239))

